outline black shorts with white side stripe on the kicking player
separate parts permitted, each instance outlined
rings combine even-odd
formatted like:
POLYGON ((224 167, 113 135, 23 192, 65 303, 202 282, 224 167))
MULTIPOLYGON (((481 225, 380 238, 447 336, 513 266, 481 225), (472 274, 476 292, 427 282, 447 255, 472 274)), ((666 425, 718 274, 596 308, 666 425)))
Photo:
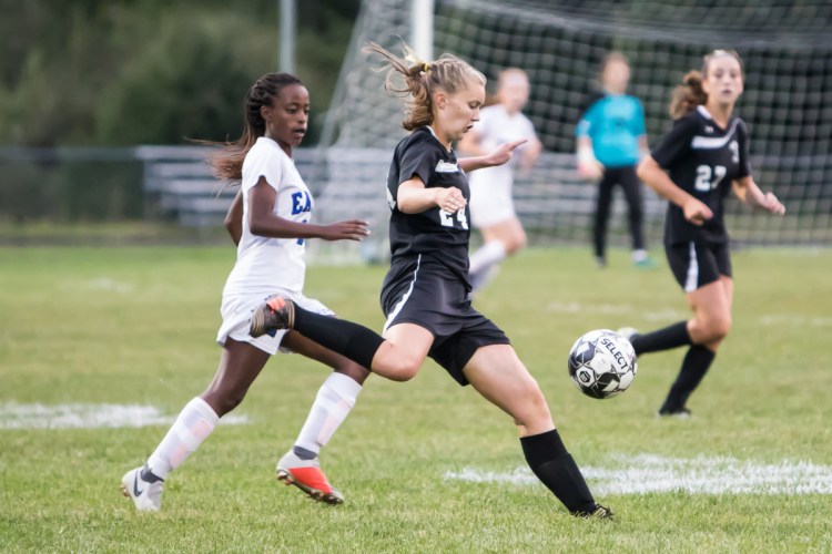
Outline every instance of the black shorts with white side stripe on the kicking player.
POLYGON ((503 330, 475 310, 468 287, 445 265, 427 255, 396 259, 382 287, 382 310, 389 327, 415 324, 434 336, 428 356, 461 384, 463 368, 490 345, 510 345, 503 330))

